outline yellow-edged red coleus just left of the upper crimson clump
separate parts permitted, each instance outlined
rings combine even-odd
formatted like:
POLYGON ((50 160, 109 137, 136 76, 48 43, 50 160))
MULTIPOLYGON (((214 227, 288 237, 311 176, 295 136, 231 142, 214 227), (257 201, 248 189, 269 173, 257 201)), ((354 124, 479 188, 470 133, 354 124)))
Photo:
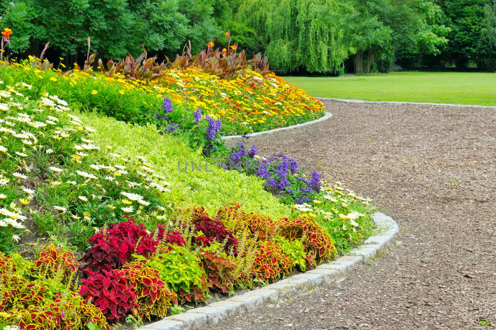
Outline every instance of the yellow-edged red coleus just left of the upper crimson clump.
POLYGON ((59 272, 62 272, 62 283, 69 280, 76 272, 78 262, 74 260, 74 254, 63 248, 56 248, 54 245, 43 247, 38 260, 34 261, 38 274, 43 274, 45 277, 55 277, 59 272))

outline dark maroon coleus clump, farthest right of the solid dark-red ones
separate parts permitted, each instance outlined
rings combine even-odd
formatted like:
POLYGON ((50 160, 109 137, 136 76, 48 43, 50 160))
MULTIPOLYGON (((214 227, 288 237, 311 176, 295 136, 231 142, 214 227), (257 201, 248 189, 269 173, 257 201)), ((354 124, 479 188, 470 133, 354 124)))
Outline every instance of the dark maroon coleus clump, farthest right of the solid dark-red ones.
POLYGON ((210 246, 215 240, 225 244, 224 250, 226 252, 236 250, 238 240, 233 236, 233 233, 229 231, 221 221, 210 218, 203 206, 194 207, 192 209, 191 220, 194 224, 194 232, 203 233, 203 235, 193 238, 198 246, 203 248, 210 246))

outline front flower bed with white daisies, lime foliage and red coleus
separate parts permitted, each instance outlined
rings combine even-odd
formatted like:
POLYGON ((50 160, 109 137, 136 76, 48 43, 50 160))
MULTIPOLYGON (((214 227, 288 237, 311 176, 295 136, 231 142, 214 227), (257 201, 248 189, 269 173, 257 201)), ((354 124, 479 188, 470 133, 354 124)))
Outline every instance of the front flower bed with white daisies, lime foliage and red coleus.
POLYGON ((2 326, 109 329, 163 317, 181 312, 178 303, 305 271, 370 230, 368 200, 290 173, 287 158, 229 149, 231 159, 267 163, 265 181, 215 166, 183 172, 177 161, 212 164, 184 137, 79 113, 55 95, 26 97, 34 89, 0 91, 2 326), (288 192, 285 180, 303 190, 288 192), (301 204, 289 208, 264 187, 301 204), (53 245, 28 241, 26 227, 53 245))

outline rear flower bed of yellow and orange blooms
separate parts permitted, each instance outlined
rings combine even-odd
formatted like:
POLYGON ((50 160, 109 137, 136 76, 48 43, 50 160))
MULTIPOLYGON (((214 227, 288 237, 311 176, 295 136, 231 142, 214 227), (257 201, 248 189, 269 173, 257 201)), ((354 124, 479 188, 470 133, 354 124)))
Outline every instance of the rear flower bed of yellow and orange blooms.
POLYGON ((189 127, 196 108, 205 115, 222 119, 222 135, 248 134, 304 123, 323 115, 320 101, 308 96, 269 73, 262 78, 254 71, 249 82, 242 78, 226 81, 197 69, 170 69, 164 78, 146 82, 124 80, 116 74, 73 71, 62 75, 59 70, 40 71, 25 64, 1 66, 5 83, 19 81, 33 86, 31 96, 41 93, 59 95, 118 120, 145 125, 174 123, 189 127), (175 112, 164 112, 162 101, 168 97, 175 112))

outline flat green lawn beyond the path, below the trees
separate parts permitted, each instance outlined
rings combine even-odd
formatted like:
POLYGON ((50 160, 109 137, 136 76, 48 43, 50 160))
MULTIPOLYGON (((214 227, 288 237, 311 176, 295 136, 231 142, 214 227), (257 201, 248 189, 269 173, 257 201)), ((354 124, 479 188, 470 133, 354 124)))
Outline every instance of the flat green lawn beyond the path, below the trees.
POLYGON ((283 79, 315 97, 496 105, 496 74, 491 73, 396 72, 283 79))

